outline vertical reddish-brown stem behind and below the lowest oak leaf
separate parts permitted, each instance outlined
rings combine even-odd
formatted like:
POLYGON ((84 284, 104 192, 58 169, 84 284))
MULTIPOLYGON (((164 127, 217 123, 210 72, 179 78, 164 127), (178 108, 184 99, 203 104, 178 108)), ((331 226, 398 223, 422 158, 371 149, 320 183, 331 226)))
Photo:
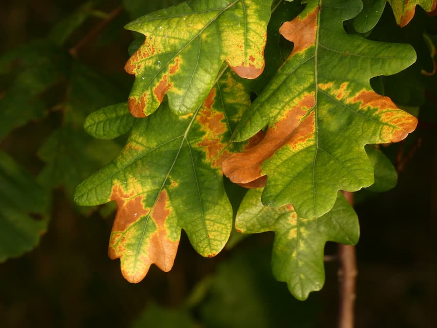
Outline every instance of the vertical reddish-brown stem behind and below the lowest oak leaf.
MULTIPOLYGON (((343 191, 344 196, 353 206, 353 193, 343 191)), ((353 328, 355 320, 356 268, 355 246, 338 244, 338 281, 340 284, 340 305, 338 316, 339 328, 353 328)))

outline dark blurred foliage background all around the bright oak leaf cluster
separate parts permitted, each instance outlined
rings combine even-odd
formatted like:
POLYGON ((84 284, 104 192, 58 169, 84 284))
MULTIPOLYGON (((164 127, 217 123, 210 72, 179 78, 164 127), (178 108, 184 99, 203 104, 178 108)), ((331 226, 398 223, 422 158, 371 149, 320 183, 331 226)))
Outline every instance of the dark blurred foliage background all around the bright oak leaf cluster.
MULTIPOLYGON (((86 115, 124 101, 132 86, 123 67, 137 35, 123 25, 177 2, 0 2, 0 327, 336 327, 335 261, 325 263, 322 291, 299 302, 272 277, 271 233, 233 239, 214 259, 183 235, 173 269, 153 266, 133 285, 106 256, 114 204, 72 203, 76 184, 124 143, 83 129, 86 115)), ((387 5, 366 33, 415 47, 416 64, 372 86, 420 123, 405 142, 382 147, 397 187, 356 194, 357 328, 437 326, 437 77, 421 73, 433 71, 436 19, 418 7, 401 29, 387 5)))

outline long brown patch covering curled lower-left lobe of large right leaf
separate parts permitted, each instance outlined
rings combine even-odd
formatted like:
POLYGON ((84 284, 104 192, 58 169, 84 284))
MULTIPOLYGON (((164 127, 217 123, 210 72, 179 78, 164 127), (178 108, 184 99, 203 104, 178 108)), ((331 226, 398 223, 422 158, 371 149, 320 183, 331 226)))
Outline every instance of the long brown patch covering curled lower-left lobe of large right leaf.
POLYGON ((232 182, 242 185, 265 176, 261 171, 261 165, 278 149, 286 144, 294 147, 296 143, 304 142, 314 135, 314 112, 304 118, 314 104, 314 94, 303 96, 302 101, 289 110, 282 121, 269 127, 266 136, 258 144, 224 160, 223 173, 232 182))

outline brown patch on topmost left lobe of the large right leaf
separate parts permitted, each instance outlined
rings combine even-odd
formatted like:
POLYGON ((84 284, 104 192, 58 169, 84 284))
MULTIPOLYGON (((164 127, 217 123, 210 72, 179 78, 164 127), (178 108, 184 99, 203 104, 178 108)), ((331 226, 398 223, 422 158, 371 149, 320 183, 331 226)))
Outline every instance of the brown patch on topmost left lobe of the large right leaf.
POLYGON ((307 17, 301 19, 298 16, 292 21, 282 24, 279 33, 294 43, 290 56, 304 51, 316 42, 318 12, 319 7, 316 7, 307 17))

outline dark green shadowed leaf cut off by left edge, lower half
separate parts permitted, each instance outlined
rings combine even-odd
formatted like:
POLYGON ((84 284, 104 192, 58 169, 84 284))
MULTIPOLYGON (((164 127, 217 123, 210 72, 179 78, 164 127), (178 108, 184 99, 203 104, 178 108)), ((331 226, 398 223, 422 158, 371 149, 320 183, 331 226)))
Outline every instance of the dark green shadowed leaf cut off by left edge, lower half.
POLYGON ((11 157, 0 152, 0 196, 0 262, 3 262, 32 250, 39 243, 49 223, 50 192, 11 157))

